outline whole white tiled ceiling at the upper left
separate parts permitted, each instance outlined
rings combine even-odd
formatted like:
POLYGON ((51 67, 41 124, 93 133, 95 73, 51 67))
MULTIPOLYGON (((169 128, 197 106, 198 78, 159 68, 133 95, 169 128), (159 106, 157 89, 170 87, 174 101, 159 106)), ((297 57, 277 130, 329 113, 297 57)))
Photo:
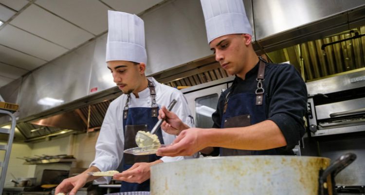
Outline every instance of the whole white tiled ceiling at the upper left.
POLYGON ((139 14, 163 0, 0 0, 0 87, 108 30, 107 10, 139 14))

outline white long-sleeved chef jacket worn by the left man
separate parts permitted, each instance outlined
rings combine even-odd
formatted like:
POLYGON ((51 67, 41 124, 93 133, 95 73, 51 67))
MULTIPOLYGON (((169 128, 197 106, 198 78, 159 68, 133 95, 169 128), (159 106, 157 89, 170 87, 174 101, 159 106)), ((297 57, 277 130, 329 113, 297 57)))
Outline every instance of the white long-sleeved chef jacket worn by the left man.
MULTIPOLYGON (((173 99, 177 102, 172 109, 182 121, 193 127, 193 119, 189 110, 187 101, 183 96, 183 93, 178 89, 169 87, 167 85, 157 82, 154 78, 148 78, 153 82, 156 90, 156 103, 161 108, 162 106, 168 106, 173 99)), ((136 98, 133 93, 130 94, 128 107, 148 107, 151 108, 151 96, 148 87, 138 93, 139 98, 136 98)), ((99 137, 96 142, 96 154, 95 159, 91 162, 90 166, 95 166, 100 171, 116 170, 122 161, 124 151, 124 131, 123 131, 123 110, 126 105, 127 95, 123 94, 120 97, 113 100, 105 115, 99 137)), ((171 144, 176 136, 170 135, 162 131, 162 137, 164 144, 171 144)), ((183 156, 163 156, 161 158, 164 162, 172 162, 182 160, 183 156)), ((111 177, 100 177, 96 179, 96 183, 109 183, 111 177)))

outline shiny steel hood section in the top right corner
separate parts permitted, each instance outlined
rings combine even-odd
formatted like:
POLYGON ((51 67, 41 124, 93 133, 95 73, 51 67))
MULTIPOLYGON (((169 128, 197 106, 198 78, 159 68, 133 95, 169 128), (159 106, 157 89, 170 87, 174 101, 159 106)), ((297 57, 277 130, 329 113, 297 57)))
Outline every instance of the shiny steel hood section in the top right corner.
POLYGON ((270 52, 358 27, 365 22, 364 5, 363 0, 255 0, 256 40, 270 52))

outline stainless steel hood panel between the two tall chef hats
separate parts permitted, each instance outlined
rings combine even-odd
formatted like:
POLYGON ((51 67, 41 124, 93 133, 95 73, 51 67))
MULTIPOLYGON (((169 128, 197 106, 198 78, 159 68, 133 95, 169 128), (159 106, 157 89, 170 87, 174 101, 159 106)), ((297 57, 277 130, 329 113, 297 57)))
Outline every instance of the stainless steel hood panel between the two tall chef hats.
MULTIPOLYGON (((253 24, 251 1, 245 0, 244 3, 253 24)), ((141 15, 141 18, 145 21, 146 30, 147 75, 212 55, 200 1, 171 0, 141 15)))

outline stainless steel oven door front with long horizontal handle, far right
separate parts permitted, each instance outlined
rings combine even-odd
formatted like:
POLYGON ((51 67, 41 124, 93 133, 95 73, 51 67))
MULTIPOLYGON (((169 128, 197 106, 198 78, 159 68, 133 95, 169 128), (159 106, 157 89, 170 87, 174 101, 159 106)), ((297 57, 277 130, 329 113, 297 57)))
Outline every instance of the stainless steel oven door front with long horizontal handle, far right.
MULTIPOLYGON (((350 99, 346 101, 339 101, 329 104, 323 104, 315 106, 317 119, 326 119, 331 118, 331 114, 341 113, 341 112, 349 112, 353 110, 363 109, 365 108, 365 98, 358 98, 358 99, 350 99)), ((365 112, 365 111, 363 111, 365 112)), ((347 113, 351 114, 351 113, 347 113)), ((356 114, 352 113, 352 114, 356 114)), ((333 116, 335 117, 335 116, 333 116)))

